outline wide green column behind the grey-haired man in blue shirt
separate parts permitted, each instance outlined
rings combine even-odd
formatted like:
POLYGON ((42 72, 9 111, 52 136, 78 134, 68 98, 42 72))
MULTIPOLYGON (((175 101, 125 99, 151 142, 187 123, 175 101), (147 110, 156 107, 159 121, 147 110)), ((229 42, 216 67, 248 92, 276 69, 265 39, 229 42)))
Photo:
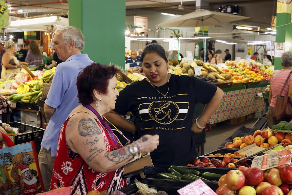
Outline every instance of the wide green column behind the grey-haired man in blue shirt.
POLYGON ((69 25, 82 30, 82 53, 97 63, 125 65, 126 0, 70 0, 69 25))

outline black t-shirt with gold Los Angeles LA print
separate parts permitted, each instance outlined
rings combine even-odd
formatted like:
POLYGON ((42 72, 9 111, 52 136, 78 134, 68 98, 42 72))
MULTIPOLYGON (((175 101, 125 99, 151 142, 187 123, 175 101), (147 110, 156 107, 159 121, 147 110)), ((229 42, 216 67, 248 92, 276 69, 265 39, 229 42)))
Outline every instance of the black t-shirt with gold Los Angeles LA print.
MULTIPOLYGON (((138 138, 159 135, 159 146, 151 152, 155 168, 166 169, 196 158, 191 136, 192 118, 197 102, 208 103, 217 87, 195 77, 171 75, 166 96, 157 92, 146 79, 124 88, 117 97, 115 112, 135 115, 138 138)), ((154 86, 155 87, 155 86, 154 86)), ((168 83, 155 87, 166 94, 168 83)))

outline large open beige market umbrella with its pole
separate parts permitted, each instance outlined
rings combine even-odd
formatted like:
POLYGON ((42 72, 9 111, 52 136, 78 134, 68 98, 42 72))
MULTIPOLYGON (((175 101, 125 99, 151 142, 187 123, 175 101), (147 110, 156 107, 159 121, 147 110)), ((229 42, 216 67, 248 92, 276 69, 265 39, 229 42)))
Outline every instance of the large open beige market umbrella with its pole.
MULTIPOLYGON (((157 26, 168 27, 202 27, 204 35, 204 26, 215 25, 218 23, 233 22, 238 20, 245 20, 249 17, 233 15, 229 13, 221 13, 208 10, 198 10, 191 13, 187 13, 177 18, 173 18, 166 22, 157 24, 157 26)), ((204 51, 206 52, 206 39, 204 39, 204 51)), ((204 55, 204 61, 206 55, 204 55)))

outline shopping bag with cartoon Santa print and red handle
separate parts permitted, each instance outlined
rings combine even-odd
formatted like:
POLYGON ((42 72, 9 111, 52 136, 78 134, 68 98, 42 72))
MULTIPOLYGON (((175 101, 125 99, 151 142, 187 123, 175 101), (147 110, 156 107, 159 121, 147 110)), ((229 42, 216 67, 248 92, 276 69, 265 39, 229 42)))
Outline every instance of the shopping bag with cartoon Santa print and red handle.
POLYGON ((8 147, 0 149, 0 192, 19 195, 44 192, 34 141, 14 145, 7 135, 2 135, 8 147))

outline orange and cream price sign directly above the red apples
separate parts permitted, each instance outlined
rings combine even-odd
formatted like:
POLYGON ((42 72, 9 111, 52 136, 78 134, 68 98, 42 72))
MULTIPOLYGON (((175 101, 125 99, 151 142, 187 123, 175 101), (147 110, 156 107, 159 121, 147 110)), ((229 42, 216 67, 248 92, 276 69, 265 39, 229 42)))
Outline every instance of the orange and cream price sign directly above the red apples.
POLYGON ((292 149, 284 149, 273 153, 257 156, 253 159, 251 167, 257 167, 260 170, 267 170, 281 165, 290 165, 292 149))

